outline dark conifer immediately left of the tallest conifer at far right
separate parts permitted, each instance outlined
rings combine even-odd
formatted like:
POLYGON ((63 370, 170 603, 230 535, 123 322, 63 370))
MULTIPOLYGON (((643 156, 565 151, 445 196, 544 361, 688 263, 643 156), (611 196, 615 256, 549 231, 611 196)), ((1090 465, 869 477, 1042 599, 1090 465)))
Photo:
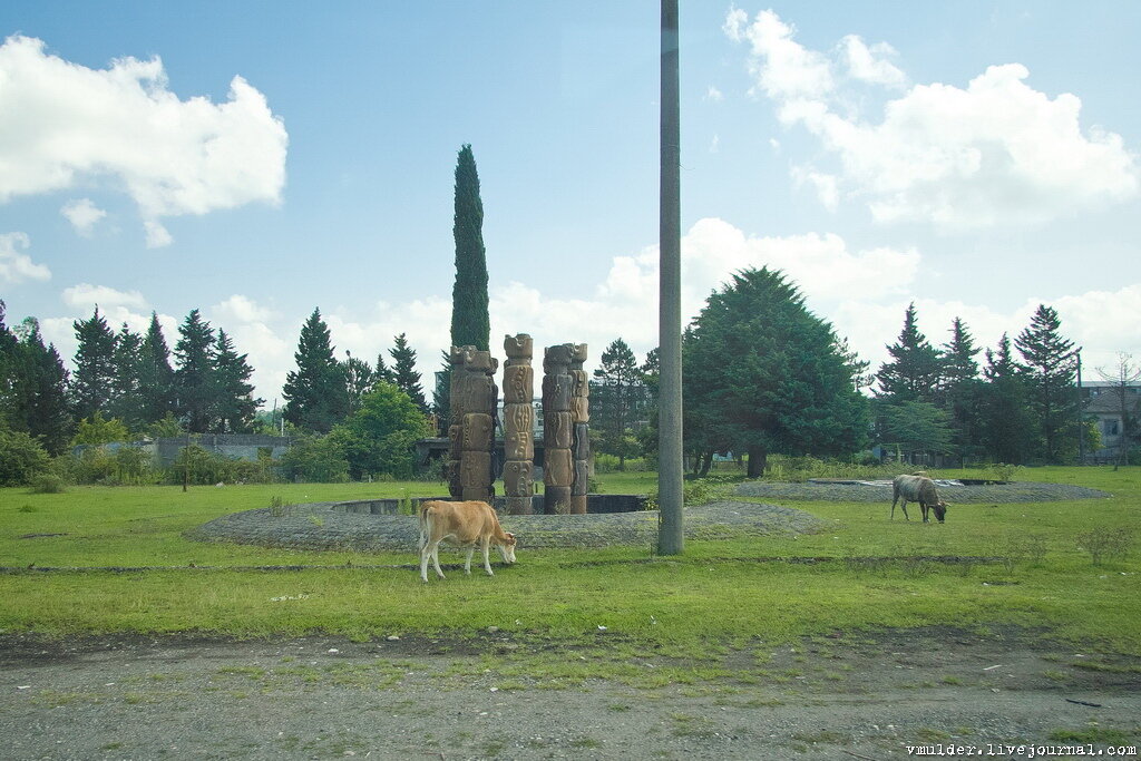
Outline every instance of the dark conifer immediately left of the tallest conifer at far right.
POLYGON ((986 387, 979 405, 980 438, 995 462, 1022 464, 1029 448, 1026 389, 1006 333, 1002 334, 997 351, 987 349, 986 358, 982 370, 986 387))

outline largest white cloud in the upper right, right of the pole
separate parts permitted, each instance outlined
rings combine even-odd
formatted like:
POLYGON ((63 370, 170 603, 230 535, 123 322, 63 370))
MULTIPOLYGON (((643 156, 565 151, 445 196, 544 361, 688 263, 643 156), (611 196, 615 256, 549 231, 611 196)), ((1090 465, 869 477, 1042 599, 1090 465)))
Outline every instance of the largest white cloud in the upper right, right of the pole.
POLYGON ((851 88, 907 83, 888 60, 890 46, 848 35, 825 56, 770 10, 748 23, 734 9, 725 29, 750 46, 754 92, 774 100, 784 124, 819 139, 836 161, 841 195, 861 199, 879 221, 1034 225, 1138 194, 1141 172, 1120 136, 1083 130, 1077 96, 1033 89, 1020 64, 990 66, 965 88, 914 84, 868 120, 851 88))

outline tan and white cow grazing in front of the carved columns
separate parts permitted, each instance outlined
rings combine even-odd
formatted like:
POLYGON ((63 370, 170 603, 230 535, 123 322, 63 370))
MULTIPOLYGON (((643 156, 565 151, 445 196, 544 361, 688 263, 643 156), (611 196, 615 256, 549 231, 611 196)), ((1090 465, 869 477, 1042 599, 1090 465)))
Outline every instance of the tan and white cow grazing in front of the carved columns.
POLYGON ((428 559, 436 574, 439 569, 439 543, 447 540, 452 544, 468 548, 463 572, 471 573, 471 556, 476 544, 484 551, 484 569, 492 573, 491 545, 499 548, 503 562, 515 562, 515 534, 508 534, 499 525, 495 510, 486 502, 444 502, 429 500, 421 502, 416 510, 420 518, 420 580, 428 582, 428 559))

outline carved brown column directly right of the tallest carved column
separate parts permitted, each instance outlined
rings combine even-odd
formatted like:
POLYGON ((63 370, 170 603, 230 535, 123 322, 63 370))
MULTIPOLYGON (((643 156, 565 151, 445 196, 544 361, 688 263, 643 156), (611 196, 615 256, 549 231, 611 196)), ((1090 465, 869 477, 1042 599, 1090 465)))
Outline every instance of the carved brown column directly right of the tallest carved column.
POLYGON ((543 353, 543 511, 547 515, 570 512, 574 484, 570 347, 559 343, 543 353))

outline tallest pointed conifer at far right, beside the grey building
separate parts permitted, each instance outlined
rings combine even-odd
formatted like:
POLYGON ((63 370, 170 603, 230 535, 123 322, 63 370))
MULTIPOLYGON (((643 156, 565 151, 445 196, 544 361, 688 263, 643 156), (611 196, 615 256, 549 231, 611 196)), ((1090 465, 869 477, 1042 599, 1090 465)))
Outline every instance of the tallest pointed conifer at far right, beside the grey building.
POLYGON ((1047 462, 1062 462, 1077 451, 1077 361, 1074 342, 1059 333, 1061 319, 1046 305, 1030 319, 1030 325, 1014 339, 1026 372, 1030 412, 1038 429, 1038 454, 1047 462))

